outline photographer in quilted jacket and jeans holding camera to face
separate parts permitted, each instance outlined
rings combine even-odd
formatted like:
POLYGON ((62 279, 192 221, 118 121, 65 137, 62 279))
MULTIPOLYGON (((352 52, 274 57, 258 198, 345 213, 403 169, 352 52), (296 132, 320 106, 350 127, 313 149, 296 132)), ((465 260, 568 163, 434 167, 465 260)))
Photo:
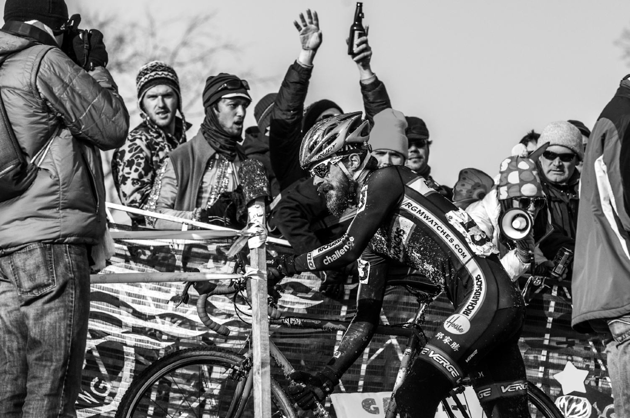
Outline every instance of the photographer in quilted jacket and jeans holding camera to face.
POLYGON ((1 128, 26 161, 39 158, 28 188, 0 196, 1 417, 76 416, 90 265, 106 232, 99 149, 129 130, 103 35, 73 20, 63 0, 4 6, 1 128))

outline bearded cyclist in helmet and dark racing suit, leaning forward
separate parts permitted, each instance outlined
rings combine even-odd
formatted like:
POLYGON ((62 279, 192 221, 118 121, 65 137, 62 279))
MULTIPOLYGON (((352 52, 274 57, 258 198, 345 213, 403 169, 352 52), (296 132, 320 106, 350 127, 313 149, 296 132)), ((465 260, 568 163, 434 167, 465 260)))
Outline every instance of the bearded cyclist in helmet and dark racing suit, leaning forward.
POLYGON ((396 391, 402 416, 433 417, 449 390, 469 375, 486 414, 526 417, 525 366, 518 350, 524 302, 496 249, 466 212, 403 166, 377 169, 361 113, 319 121, 306 133, 300 164, 333 213, 352 203, 343 237, 299 256, 268 259, 270 280, 344 266, 358 258, 357 314, 323 370, 297 372, 290 394, 302 409, 333 392, 379 322, 387 280, 417 269, 444 290, 455 313, 421 349, 396 391))

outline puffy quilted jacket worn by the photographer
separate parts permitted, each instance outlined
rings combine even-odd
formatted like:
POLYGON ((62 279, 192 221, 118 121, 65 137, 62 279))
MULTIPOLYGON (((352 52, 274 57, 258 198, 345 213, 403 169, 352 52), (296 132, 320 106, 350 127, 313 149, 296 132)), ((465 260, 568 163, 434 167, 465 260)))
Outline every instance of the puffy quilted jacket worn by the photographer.
POLYGON ((129 113, 103 67, 83 71, 57 47, 0 31, 0 94, 30 159, 54 135, 37 178, 0 203, 0 255, 28 244, 96 244, 105 233, 99 150, 120 147, 129 113))

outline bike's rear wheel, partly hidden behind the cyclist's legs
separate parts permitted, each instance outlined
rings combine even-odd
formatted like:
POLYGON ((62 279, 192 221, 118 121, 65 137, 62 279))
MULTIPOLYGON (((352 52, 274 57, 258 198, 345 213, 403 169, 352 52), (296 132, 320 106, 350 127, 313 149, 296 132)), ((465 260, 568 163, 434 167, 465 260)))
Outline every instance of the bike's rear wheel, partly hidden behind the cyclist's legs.
MULTIPOLYGON (((481 410, 479 400, 472 387, 469 390, 458 393, 442 400, 436 417, 455 418, 488 418, 481 410), (452 415, 449 415, 450 414, 452 415)), ((553 401, 540 390, 534 383, 527 382, 527 398, 529 401, 529 413, 531 418, 564 418, 553 401)))

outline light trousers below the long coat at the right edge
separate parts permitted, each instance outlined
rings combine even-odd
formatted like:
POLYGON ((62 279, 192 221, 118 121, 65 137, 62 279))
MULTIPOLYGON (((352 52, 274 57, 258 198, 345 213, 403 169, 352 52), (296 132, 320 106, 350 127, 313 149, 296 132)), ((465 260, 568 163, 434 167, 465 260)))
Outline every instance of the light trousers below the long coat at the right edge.
POLYGON ((611 319, 606 355, 617 418, 630 418, 630 315, 611 319))

